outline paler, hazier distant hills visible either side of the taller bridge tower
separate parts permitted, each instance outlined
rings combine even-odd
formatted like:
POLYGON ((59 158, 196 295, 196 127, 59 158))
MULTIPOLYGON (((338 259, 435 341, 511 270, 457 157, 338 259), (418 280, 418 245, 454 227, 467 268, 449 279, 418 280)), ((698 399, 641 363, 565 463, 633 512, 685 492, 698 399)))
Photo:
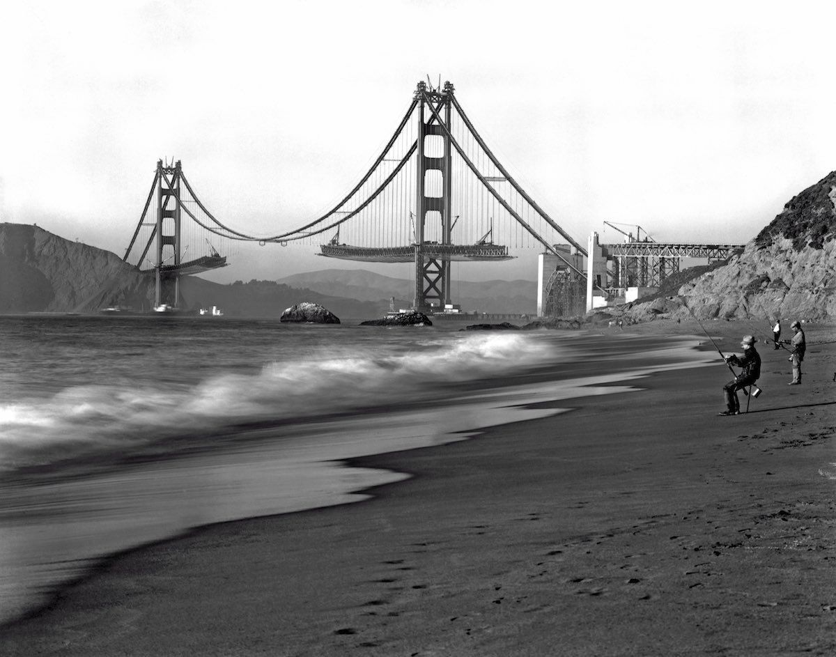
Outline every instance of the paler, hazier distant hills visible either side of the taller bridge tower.
MULTIPOLYGON (((395 297, 399 308, 412 303, 411 279, 393 278, 363 269, 328 269, 304 272, 279 278, 277 283, 308 288, 362 301, 383 303, 395 297)), ((537 283, 533 281, 453 281, 453 301, 464 310, 482 313, 534 313, 537 306, 537 283)))

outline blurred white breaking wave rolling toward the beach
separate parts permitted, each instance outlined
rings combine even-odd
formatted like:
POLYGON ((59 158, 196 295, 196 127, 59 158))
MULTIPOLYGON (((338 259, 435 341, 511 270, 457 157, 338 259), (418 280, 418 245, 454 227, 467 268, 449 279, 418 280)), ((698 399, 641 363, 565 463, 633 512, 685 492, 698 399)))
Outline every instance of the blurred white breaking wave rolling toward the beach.
MULTIPOLYGON (((234 433, 261 421, 350 413, 421 400, 438 384, 531 367, 548 342, 520 334, 447 335, 414 343, 308 350, 253 374, 77 385, 45 400, 0 405, 0 469, 130 451, 175 436, 234 433)), ((435 391, 435 392, 434 392, 435 391)))

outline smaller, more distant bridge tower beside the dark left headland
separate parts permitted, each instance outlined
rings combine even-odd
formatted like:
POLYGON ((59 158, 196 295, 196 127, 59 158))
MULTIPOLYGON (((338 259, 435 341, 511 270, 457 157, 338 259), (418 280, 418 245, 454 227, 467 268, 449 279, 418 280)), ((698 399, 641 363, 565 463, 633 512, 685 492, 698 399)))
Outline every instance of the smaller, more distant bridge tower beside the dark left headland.
POLYGON ((166 267, 172 273, 166 274, 174 278, 174 295, 171 301, 172 306, 178 306, 180 302, 180 272, 178 267, 181 263, 182 242, 181 242, 181 203, 180 203, 180 181, 182 168, 180 160, 174 166, 163 166, 162 160, 157 160, 157 212, 156 212, 156 253, 155 253, 155 307, 163 302, 163 262, 171 260, 174 267, 166 267), (173 224, 173 225, 172 225, 173 224), (166 232, 169 231, 169 232, 166 232), (171 247, 173 254, 166 260, 165 247, 171 247))

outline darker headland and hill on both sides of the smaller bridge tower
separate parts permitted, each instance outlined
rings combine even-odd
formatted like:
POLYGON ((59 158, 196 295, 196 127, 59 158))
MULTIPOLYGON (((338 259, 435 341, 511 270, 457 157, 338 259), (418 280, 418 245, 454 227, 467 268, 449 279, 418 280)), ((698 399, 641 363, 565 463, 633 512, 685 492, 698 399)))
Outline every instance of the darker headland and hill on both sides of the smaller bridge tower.
MULTIPOLYGON (((150 311, 155 280, 115 253, 70 242, 37 226, 0 223, 0 313, 95 313, 120 305, 150 311)), ((272 281, 220 285, 181 278, 185 309, 217 305, 232 317, 278 318, 311 301, 341 318, 374 318, 388 302, 361 303, 272 281)))

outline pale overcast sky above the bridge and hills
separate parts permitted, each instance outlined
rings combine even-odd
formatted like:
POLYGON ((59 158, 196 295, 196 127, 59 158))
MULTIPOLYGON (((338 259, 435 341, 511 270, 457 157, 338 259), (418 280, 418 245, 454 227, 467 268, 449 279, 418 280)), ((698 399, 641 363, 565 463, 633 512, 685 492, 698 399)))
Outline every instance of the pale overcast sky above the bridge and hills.
MULTIPOLYGON (((836 169, 831 3, 78 0, 0 22, 0 220, 120 255, 160 158, 241 232, 318 216, 427 74, 582 243, 619 241, 604 221, 747 242, 836 169)), ((210 278, 354 266, 313 252, 242 247, 210 278)), ((536 253, 459 275, 535 279, 536 253)))

